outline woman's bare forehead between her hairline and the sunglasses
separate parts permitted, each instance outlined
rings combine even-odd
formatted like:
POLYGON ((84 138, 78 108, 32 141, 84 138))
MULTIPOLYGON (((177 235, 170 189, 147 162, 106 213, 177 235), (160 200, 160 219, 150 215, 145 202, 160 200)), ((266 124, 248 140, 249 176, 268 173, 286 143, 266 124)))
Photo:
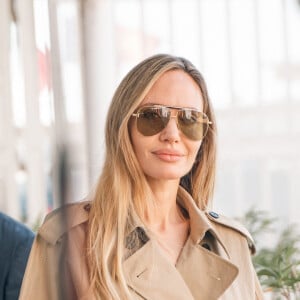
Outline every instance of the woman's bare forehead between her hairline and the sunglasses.
POLYGON ((203 109, 200 87, 182 70, 163 73, 151 87, 141 105, 147 103, 203 109))

